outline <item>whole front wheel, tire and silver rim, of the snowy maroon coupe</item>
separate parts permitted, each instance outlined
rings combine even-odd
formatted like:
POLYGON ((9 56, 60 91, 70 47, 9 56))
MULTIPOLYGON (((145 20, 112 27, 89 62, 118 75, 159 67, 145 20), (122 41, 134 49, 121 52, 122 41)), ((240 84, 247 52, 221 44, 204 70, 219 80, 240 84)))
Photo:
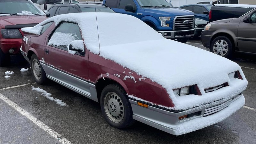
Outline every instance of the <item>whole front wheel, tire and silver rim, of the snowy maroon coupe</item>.
POLYGON ((132 106, 118 84, 109 84, 102 90, 100 108, 108 124, 115 128, 124 129, 133 124, 132 106))

